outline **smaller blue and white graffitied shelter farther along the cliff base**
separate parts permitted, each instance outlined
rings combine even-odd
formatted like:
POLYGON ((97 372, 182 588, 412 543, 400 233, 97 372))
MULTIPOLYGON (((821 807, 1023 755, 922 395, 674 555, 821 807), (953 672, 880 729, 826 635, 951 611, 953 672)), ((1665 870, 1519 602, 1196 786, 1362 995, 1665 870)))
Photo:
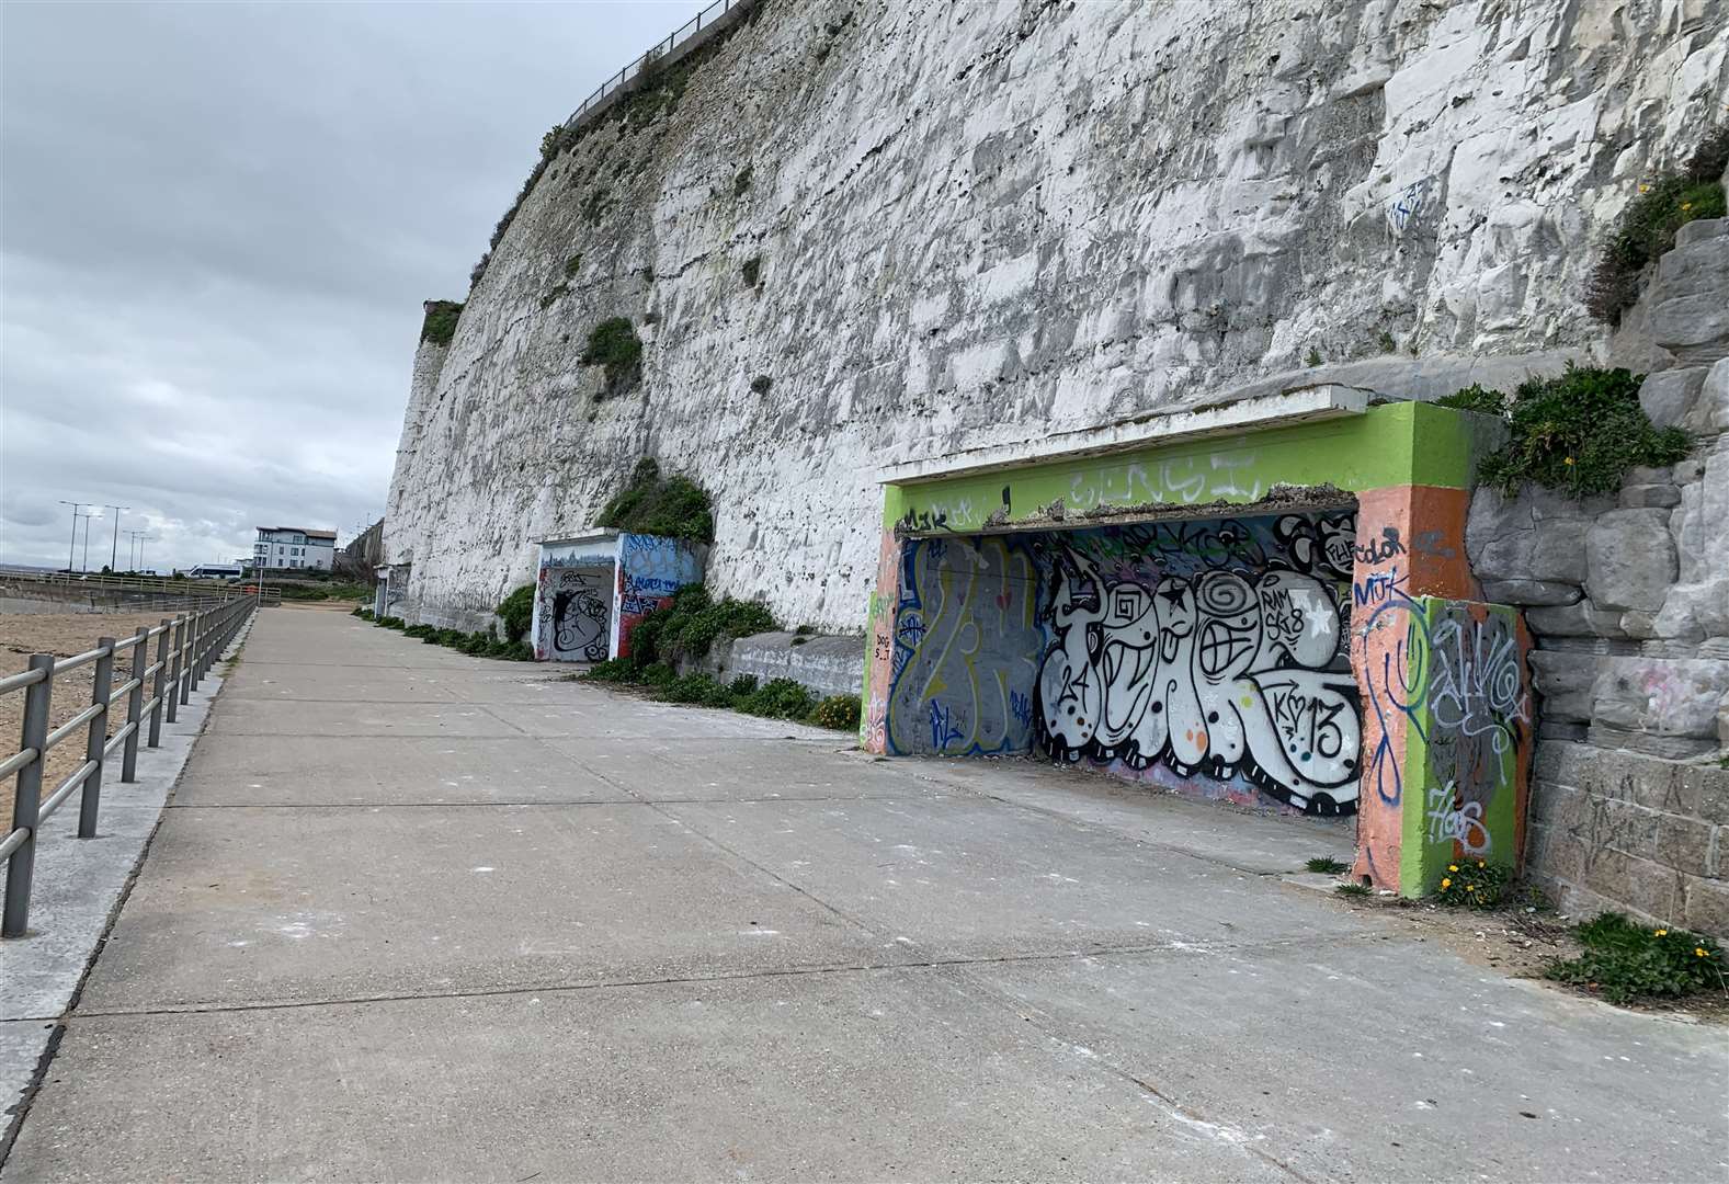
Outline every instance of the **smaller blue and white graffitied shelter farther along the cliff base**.
POLYGON ((685 584, 702 582, 709 548, 688 539, 593 531, 541 539, 534 574, 534 657, 603 662, 631 655, 631 629, 685 584))

